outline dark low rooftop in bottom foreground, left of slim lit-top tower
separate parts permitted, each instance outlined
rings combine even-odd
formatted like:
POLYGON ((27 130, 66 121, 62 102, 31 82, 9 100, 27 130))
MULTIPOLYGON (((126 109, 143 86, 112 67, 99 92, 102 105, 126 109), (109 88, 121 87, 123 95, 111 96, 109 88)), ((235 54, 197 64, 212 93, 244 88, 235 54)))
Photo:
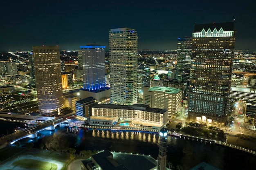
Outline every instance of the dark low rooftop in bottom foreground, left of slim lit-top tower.
MULTIPOLYGON (((135 155, 110 152, 108 150, 92 155, 102 170, 151 170, 157 167, 157 161, 148 155, 135 155)), ((87 159, 82 161, 88 164, 87 159)))

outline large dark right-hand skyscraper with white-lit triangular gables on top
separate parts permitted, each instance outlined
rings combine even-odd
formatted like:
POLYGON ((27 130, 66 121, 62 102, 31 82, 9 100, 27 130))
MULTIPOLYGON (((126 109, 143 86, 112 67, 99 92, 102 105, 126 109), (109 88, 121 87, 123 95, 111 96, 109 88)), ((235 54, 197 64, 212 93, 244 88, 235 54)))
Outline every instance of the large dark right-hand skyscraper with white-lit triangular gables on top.
POLYGON ((225 125, 236 42, 234 22, 195 24, 189 84, 189 119, 225 125))

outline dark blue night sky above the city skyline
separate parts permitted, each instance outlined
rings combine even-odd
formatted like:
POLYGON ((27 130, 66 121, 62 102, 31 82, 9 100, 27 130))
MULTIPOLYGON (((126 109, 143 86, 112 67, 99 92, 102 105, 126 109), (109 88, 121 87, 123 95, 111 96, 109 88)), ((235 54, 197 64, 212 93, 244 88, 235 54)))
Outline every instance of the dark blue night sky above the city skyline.
POLYGON ((106 45, 110 29, 138 33, 139 49, 177 49, 177 37, 192 36, 195 22, 232 22, 236 49, 256 51, 255 0, 5 0, 0 3, 0 51, 33 45, 76 50, 106 45))

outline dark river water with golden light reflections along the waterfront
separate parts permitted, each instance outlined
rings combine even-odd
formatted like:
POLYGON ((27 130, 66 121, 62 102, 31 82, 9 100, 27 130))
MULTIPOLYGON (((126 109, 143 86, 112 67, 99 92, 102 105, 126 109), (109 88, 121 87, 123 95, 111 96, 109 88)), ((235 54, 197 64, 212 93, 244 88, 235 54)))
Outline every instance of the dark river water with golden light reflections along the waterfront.
MULTIPOLYGON (((6 135, 15 127, 23 126, 0 122, 1 133, 6 135), (8 127, 8 128, 7 128, 8 127)), ((44 130, 37 134, 36 139, 22 139, 21 143, 33 142, 38 147, 43 139, 63 134, 65 139, 80 150, 110 150, 116 152, 139 153, 157 159, 159 135, 145 132, 112 132, 102 130, 85 130, 57 126, 55 131, 44 130)), ((168 136, 167 160, 187 169, 203 161, 223 170, 255 169, 256 156, 240 150, 219 146, 209 142, 184 140, 168 136)))

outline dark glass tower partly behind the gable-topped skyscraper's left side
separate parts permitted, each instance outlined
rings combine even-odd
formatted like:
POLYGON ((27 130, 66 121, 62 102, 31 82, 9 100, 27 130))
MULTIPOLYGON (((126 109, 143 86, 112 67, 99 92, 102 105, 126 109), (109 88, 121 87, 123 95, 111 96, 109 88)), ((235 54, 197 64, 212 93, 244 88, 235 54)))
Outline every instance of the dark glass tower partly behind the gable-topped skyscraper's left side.
POLYGON ((190 77, 190 60, 192 37, 178 38, 176 79, 188 82, 190 77))

